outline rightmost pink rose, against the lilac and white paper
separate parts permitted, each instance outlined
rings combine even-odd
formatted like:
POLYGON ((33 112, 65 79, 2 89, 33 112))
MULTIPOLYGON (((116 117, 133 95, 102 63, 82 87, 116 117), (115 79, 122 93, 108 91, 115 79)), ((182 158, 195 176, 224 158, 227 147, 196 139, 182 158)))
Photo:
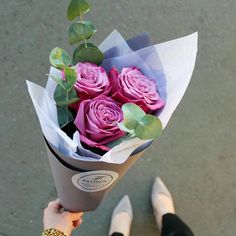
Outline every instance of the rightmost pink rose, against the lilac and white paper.
POLYGON ((156 81, 135 67, 123 68, 120 74, 116 68, 112 68, 109 79, 112 98, 121 104, 135 103, 146 113, 152 113, 165 104, 157 92, 156 81))

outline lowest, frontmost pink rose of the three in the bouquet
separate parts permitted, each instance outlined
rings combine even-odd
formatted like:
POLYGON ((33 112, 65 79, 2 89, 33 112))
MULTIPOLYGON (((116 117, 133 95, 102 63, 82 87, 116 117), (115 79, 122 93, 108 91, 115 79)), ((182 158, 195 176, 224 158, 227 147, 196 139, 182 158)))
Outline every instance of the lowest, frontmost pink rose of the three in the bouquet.
POLYGON ((125 135, 117 127, 123 120, 123 112, 117 103, 104 95, 80 103, 74 124, 80 140, 90 147, 108 151, 105 145, 125 135))

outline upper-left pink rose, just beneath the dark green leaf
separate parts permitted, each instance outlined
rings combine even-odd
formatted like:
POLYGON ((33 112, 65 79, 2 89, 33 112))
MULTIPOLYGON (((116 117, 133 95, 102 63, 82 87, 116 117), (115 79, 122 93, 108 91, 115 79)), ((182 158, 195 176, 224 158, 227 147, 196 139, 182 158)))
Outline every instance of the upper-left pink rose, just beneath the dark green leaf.
POLYGON ((107 95, 110 90, 110 82, 104 68, 88 62, 80 62, 76 65, 77 81, 74 88, 80 101, 70 105, 73 110, 78 110, 82 100, 94 98, 100 94, 107 95))

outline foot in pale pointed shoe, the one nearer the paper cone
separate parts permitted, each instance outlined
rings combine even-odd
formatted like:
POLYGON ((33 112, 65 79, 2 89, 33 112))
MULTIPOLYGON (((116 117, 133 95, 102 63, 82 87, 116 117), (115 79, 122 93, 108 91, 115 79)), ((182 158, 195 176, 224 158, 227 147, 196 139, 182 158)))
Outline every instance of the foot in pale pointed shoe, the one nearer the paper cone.
POLYGON ((113 211, 109 236, 113 233, 121 233, 124 236, 129 236, 132 219, 132 205, 129 197, 126 195, 113 211))

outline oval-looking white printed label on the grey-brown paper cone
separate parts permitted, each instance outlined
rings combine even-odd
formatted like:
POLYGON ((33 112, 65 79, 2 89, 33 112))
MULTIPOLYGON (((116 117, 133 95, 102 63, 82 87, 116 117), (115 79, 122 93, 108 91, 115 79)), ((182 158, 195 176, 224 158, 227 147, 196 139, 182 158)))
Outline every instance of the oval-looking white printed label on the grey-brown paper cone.
POLYGON ((72 183, 84 192, 97 192, 108 188, 118 177, 114 171, 89 171, 72 176, 72 183))

